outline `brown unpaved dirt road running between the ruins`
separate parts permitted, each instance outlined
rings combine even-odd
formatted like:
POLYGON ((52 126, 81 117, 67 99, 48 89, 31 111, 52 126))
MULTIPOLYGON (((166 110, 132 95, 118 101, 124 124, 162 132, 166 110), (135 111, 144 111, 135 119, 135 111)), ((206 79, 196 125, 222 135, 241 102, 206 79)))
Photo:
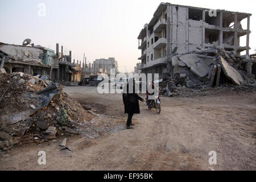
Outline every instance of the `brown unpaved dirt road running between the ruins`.
POLYGON ((56 142, 22 146, 1 152, 0 169, 22 170, 255 170, 256 93, 193 98, 162 97, 162 111, 134 116, 133 130, 125 130, 122 96, 96 94, 96 87, 65 87, 64 92, 84 105, 100 107, 117 119, 122 130, 80 142, 77 150, 56 142), (38 151, 46 152, 39 165, 38 151), (209 151, 217 164, 210 165, 209 151))

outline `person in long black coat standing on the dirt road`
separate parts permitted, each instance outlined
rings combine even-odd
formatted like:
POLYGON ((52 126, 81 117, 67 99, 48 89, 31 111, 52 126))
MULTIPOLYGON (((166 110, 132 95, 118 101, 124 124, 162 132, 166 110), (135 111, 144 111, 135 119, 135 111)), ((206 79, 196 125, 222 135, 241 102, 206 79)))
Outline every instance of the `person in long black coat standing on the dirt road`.
POLYGON ((123 87, 123 90, 127 90, 127 93, 123 92, 123 104, 125 105, 125 114, 128 114, 126 129, 133 129, 131 127, 134 125, 131 121, 133 118, 133 114, 139 114, 139 100, 144 102, 143 98, 139 97, 137 93, 135 93, 135 80, 133 79, 133 93, 129 93, 129 84, 123 87))

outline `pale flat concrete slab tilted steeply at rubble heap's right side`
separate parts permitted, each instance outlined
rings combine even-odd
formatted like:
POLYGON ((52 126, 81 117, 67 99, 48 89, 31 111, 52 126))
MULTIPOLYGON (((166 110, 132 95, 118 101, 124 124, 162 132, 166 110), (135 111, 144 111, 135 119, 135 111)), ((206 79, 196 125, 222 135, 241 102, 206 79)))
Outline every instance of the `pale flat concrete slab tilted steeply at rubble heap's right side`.
POLYGON ((240 73, 234 69, 223 57, 220 56, 220 65, 222 70, 224 71, 226 77, 228 77, 230 80, 234 82, 236 85, 241 85, 241 83, 244 81, 243 77, 240 75, 240 73))

